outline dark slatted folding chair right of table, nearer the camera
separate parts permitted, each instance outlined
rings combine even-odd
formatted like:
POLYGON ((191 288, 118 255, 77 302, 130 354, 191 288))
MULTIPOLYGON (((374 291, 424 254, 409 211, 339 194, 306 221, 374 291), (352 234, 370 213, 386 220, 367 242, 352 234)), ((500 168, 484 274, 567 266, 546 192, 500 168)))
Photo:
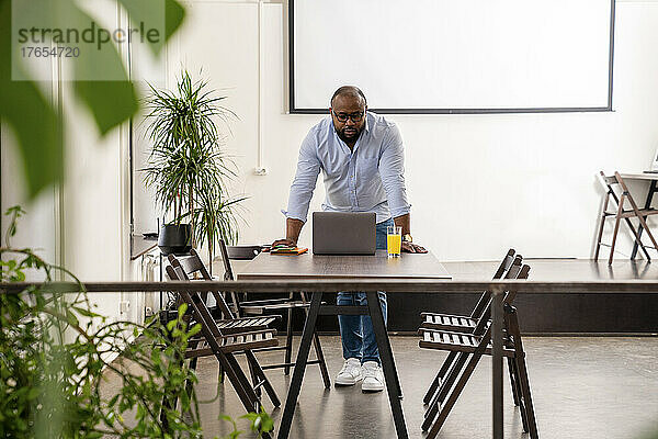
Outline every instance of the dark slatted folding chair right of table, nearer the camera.
MULTIPOLYGON (((510 268, 510 271, 514 266, 510 268)), ((523 266, 517 274, 508 275, 506 279, 526 279, 530 272, 529 266, 523 266)), ((511 359, 513 368, 512 391, 518 395, 523 431, 530 432, 531 439, 537 439, 537 427, 530 392, 530 381, 527 378, 527 368, 525 364, 525 352, 521 340, 517 309, 510 305, 515 296, 515 292, 510 291, 503 299, 504 307, 504 345, 503 356, 511 359)), ((491 325, 484 318, 478 322, 473 334, 453 333, 434 329, 420 329, 422 339, 419 346, 423 349, 446 350, 458 352, 461 357, 466 357, 468 362, 461 368, 454 386, 449 389, 446 398, 441 405, 438 414, 429 414, 423 423, 423 430, 428 430, 427 439, 433 439, 439 434, 445 423, 447 415, 454 407, 458 396, 466 386, 468 379, 477 367, 483 356, 491 356, 491 325), (480 335, 481 334, 481 335, 480 335), (436 416, 438 415, 438 416, 436 416), (431 427, 431 428, 430 428, 431 427)), ((432 407, 430 407, 432 408, 432 407)))

